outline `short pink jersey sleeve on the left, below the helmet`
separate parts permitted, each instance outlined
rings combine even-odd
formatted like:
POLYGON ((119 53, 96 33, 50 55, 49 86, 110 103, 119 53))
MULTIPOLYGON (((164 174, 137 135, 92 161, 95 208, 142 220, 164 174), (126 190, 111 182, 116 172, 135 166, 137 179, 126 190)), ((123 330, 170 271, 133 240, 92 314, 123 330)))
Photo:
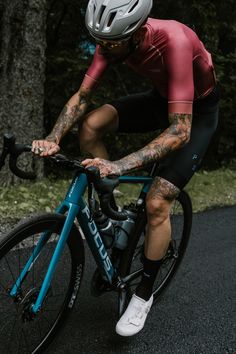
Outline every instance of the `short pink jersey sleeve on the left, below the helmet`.
POLYGON ((99 53, 99 48, 99 46, 96 46, 93 61, 88 68, 82 82, 82 86, 87 89, 93 89, 98 86, 102 75, 109 66, 109 61, 106 59, 106 57, 99 53))

